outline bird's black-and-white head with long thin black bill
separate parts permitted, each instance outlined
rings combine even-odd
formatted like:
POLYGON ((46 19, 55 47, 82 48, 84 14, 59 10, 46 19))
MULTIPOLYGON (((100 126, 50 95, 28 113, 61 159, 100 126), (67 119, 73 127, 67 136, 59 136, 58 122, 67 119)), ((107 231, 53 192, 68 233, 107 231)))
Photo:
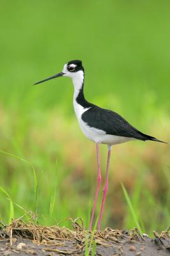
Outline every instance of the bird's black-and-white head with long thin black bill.
POLYGON ((72 61, 67 62, 64 65, 62 72, 55 74, 54 76, 50 76, 46 79, 43 79, 35 84, 43 83, 45 81, 48 81, 50 79, 54 79, 54 78, 60 77, 60 76, 71 77, 73 80, 83 77, 84 76, 84 68, 82 66, 81 60, 72 60, 72 61))

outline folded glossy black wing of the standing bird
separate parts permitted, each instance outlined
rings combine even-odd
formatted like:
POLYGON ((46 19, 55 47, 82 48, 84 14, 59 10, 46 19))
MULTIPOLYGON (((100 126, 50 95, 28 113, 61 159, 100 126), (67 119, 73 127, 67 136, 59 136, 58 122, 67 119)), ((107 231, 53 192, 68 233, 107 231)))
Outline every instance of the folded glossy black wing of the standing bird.
MULTIPOLYGON (((143 134, 129 124, 122 116, 117 113, 92 106, 89 110, 85 111, 81 116, 82 120, 90 127, 101 129, 106 134, 136 138, 138 140, 155 140, 159 141, 152 136, 143 134)), ((163 142, 163 141, 160 141, 163 142)))

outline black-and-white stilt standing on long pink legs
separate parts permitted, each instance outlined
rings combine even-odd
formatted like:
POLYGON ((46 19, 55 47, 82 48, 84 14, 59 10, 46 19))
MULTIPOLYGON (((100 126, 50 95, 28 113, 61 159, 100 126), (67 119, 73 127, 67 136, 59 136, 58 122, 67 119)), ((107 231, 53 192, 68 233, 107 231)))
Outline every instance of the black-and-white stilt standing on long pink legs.
POLYGON ((99 159, 99 144, 108 145, 108 159, 106 166, 106 179, 103 189, 103 199, 101 203, 101 210, 99 213, 99 220, 97 223, 97 229, 101 228, 101 220, 103 217, 104 204, 106 202, 106 194, 108 191, 108 177, 109 177, 109 167, 110 167, 110 156, 111 147, 116 144, 124 143, 131 140, 141 140, 141 141, 157 141, 161 143, 166 143, 164 141, 158 140, 153 136, 149 136, 139 131, 133 127, 129 122, 127 122, 122 116, 118 115, 116 112, 100 108, 95 104, 90 103, 85 99, 84 96, 84 81, 85 81, 85 70, 82 65, 81 60, 72 60, 64 65, 62 72, 50 76, 46 79, 39 81, 38 83, 43 83, 50 79, 55 79, 57 77, 71 77, 74 85, 73 93, 73 107, 76 114, 76 118, 80 125, 81 131, 85 136, 96 143, 97 152, 97 188, 96 195, 94 198, 94 205, 92 209, 92 215, 90 218, 89 230, 92 230, 92 223, 94 220, 94 214, 97 205, 97 198, 99 195, 99 188, 101 185, 101 164, 99 159))

